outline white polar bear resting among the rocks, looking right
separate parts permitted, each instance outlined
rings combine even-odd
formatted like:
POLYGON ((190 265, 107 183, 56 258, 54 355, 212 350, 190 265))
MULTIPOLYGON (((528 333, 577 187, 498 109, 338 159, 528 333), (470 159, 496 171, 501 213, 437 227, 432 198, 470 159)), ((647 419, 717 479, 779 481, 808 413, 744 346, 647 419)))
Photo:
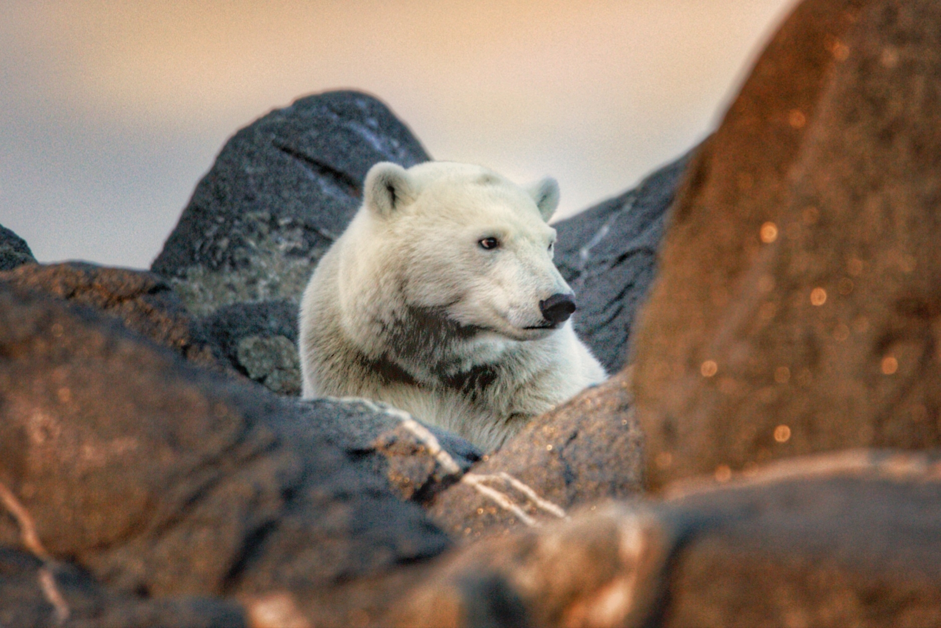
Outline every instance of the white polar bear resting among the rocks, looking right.
POLYGON ((479 447, 602 382, 552 263, 550 178, 478 165, 374 165, 304 290, 303 397, 384 401, 479 447))

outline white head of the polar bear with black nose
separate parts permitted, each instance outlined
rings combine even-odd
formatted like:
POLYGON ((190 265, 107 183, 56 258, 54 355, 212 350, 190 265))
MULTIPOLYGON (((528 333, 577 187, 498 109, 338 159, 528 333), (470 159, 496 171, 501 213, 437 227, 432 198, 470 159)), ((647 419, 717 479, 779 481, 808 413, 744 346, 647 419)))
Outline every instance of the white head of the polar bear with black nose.
POLYGON ((468 366, 455 352, 479 364, 549 337, 575 310, 552 262, 558 201, 550 178, 522 188, 478 165, 374 165, 343 235, 347 331, 367 353, 457 358, 455 369, 468 366))

